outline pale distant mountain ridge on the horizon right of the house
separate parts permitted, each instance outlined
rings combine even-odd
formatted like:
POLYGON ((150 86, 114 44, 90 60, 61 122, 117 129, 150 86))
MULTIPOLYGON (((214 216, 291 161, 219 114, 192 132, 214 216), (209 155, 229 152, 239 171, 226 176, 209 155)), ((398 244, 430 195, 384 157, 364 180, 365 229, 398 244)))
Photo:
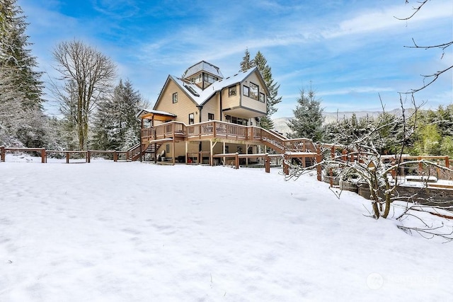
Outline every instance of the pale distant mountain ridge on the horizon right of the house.
MULTIPOLYGON (((391 111, 387 111, 391 115, 401 115, 401 109, 394 109, 391 111)), ((352 114, 355 113, 357 119, 360 117, 378 117, 382 111, 356 111, 356 112, 323 112, 323 116, 325 117, 324 124, 328 124, 331 122, 336 122, 336 120, 343 120, 343 118, 349 119, 352 117, 352 114)), ((274 122, 274 129, 277 132, 282 133, 283 135, 287 135, 287 133, 291 132, 289 129, 287 122, 292 119, 292 117, 279 117, 273 119, 274 122)))

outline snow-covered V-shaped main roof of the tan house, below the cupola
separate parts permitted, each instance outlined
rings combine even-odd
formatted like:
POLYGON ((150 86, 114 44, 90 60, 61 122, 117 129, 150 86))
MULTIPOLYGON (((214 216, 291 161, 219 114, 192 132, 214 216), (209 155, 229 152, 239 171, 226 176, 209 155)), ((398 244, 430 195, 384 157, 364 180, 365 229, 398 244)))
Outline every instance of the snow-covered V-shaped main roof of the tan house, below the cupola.
POLYGON ((210 86, 202 90, 199 86, 195 85, 194 83, 190 83, 188 81, 184 81, 183 79, 176 78, 175 76, 169 76, 180 88, 185 91, 190 98, 192 98, 195 103, 198 105, 202 105, 207 100, 209 100, 214 93, 217 91, 221 91, 223 88, 232 86, 237 83, 241 83, 247 76, 252 74, 254 71, 258 70, 256 67, 248 69, 246 71, 239 71, 234 76, 229 76, 225 79, 220 79, 219 81, 215 81, 210 86))

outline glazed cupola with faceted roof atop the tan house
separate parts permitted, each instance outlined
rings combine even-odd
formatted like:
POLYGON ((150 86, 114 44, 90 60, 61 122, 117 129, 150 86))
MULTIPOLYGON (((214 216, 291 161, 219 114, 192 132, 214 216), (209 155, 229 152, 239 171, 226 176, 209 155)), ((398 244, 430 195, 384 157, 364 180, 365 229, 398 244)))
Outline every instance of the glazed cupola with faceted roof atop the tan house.
POLYGON ((219 67, 214 66, 206 61, 198 62, 190 66, 184 74, 185 81, 190 81, 198 87, 205 89, 215 81, 223 79, 219 67))

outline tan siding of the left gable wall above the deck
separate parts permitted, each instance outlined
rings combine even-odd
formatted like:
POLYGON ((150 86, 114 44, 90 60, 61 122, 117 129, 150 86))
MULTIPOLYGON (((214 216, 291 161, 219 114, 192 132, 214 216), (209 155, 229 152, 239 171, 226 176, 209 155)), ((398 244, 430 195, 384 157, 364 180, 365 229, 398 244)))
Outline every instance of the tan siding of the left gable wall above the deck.
POLYGON ((162 98, 155 110, 173 113, 173 115, 176 115, 176 121, 185 124, 189 123, 189 113, 194 113, 195 122, 198 122, 198 115, 195 115, 195 112, 198 112, 197 106, 193 100, 191 100, 188 95, 171 80, 168 81, 168 86, 162 92, 162 98), (178 103, 173 104, 173 93, 176 92, 178 93, 178 103))

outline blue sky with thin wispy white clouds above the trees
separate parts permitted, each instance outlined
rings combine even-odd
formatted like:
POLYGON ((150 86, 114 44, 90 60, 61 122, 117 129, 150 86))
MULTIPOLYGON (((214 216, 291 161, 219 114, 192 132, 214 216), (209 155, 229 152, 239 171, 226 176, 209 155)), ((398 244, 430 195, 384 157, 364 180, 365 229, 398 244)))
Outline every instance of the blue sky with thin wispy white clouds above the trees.
MULTIPOLYGON (((118 79, 130 79, 154 104, 168 74, 210 62, 230 76, 246 49, 268 59, 282 103, 273 117, 292 116, 301 88, 310 83, 327 112, 399 107, 398 91, 423 85, 420 74, 451 66, 453 47, 416 50, 452 40, 453 1, 430 0, 409 21, 411 0, 183 1, 18 0, 30 23, 33 55, 44 81, 56 78, 52 49, 82 40, 108 55, 118 79)), ((452 70, 416 94, 425 108, 452 103, 452 70)), ((46 97, 47 113, 57 103, 46 97)))

